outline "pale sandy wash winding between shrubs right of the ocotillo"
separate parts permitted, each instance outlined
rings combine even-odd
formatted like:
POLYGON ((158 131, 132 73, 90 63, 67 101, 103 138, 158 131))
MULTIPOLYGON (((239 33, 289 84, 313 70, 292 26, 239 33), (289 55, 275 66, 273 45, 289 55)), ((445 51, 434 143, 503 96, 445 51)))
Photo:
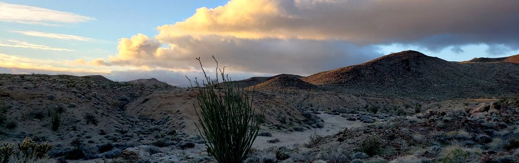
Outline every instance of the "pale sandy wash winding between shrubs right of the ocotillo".
POLYGON ((293 146, 294 144, 306 143, 310 140, 310 135, 317 133, 319 135, 332 135, 343 130, 345 127, 358 127, 367 125, 360 121, 350 121, 340 115, 331 115, 321 113, 319 118, 324 120, 324 127, 319 129, 306 130, 303 132, 280 132, 271 131, 272 137, 257 137, 253 146, 258 149, 264 149, 271 146, 293 146), (278 143, 268 143, 267 140, 279 139, 278 143))

